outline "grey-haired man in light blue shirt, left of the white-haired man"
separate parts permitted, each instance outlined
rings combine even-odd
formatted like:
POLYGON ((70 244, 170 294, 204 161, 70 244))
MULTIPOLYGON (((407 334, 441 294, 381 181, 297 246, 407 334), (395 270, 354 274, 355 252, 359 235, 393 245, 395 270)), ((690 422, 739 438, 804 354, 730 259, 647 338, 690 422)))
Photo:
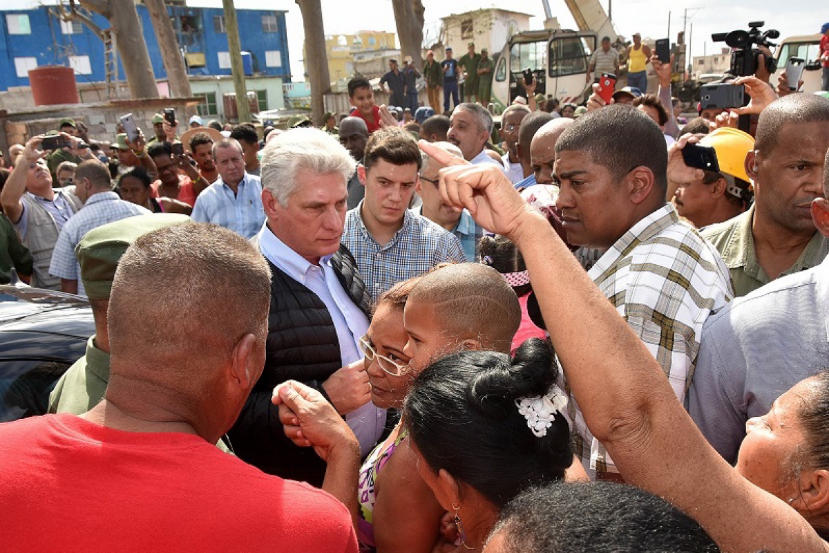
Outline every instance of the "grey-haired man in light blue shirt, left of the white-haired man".
POLYGON ((234 138, 213 144, 213 159, 219 178, 196 198, 192 218, 251 238, 264 222, 259 177, 245 171, 245 151, 234 138))

